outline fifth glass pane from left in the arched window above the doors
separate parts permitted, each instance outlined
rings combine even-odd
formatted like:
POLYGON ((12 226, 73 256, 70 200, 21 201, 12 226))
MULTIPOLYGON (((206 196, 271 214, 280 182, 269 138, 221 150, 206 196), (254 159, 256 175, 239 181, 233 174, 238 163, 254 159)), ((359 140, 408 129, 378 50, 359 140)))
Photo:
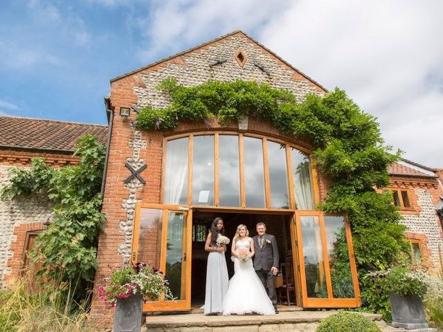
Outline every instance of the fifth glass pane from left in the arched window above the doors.
POLYGON ((288 172, 285 145, 268 140, 269 182, 271 208, 288 209, 288 172))

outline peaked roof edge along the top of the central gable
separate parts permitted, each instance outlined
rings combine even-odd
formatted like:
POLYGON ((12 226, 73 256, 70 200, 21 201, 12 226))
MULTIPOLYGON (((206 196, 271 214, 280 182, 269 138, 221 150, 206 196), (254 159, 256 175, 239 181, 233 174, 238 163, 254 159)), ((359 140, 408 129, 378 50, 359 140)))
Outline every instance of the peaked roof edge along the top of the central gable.
POLYGON ((299 71, 296 67, 292 66, 291 64, 289 64, 289 62, 287 62, 286 60, 282 59, 282 57, 278 56, 277 54, 275 54, 272 50, 270 50, 269 48, 267 48, 266 46, 263 46, 262 44, 260 44, 259 42, 257 42, 253 37, 249 36, 248 34, 244 33, 242 30, 235 30, 232 33, 228 33, 226 35, 222 35, 221 37, 217 37, 215 39, 211 39, 208 42, 204 42, 203 44, 194 46, 192 48, 188 48, 187 50, 183 50, 182 52, 176 53, 174 55, 171 55, 170 57, 165 57, 163 59, 160 59, 159 61, 156 62, 152 62, 151 64, 147 64, 146 66, 143 66, 141 68, 135 69, 134 71, 130 71, 129 73, 125 73, 123 75, 118 75, 117 77, 111 78, 110 82, 115 82, 116 80, 120 80, 120 78, 123 77, 127 77, 129 75, 132 75, 134 73, 138 73, 140 71, 144 71, 147 68, 150 68, 152 66, 156 66, 157 64, 161 64, 162 62, 166 62, 170 59, 173 59, 174 57, 179 57, 180 55, 184 55, 186 53, 190 53, 193 50, 197 50, 198 48, 202 48, 208 44, 213 44, 215 42, 218 42, 221 39, 226 39, 227 37, 236 35, 237 33, 241 33, 242 35, 244 35, 246 38, 251 39, 251 41, 253 41, 255 44, 257 44, 258 46, 260 46, 261 48, 264 48, 264 50, 266 50, 267 52, 271 53, 274 57, 277 57, 277 59, 279 59, 281 62, 283 62, 284 64, 286 64, 287 66, 291 67, 294 71, 296 71, 297 73, 299 73, 300 75, 302 75, 303 77, 305 77, 307 80, 311 81, 312 83, 316 84, 317 86, 320 87, 320 89, 323 89, 325 92, 327 92, 328 90, 322 86, 320 83, 316 82, 316 80, 313 80, 311 77, 309 77, 308 75, 306 75, 305 73, 302 73, 301 71, 299 71))

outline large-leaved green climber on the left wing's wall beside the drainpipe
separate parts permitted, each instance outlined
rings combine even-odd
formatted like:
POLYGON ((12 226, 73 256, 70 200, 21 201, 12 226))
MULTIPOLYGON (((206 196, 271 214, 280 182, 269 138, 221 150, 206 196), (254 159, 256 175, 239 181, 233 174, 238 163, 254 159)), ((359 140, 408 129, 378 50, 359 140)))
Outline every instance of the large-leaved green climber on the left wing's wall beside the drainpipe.
POLYGON ((80 299, 98 266, 97 237, 105 220, 100 212, 105 146, 91 135, 80 138, 77 145, 78 165, 53 169, 35 158, 30 170, 12 168, 1 199, 44 194, 53 201, 53 220, 35 240, 38 250, 33 261, 42 264, 42 275, 71 285, 66 291, 75 291, 80 299))

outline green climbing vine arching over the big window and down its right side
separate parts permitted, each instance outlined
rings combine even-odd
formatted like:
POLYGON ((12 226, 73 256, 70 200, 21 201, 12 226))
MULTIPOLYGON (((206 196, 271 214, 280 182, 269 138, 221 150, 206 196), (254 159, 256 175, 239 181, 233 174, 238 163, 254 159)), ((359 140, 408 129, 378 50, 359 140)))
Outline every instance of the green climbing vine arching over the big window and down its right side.
MULTIPOLYGON (((387 168, 400 152, 390 154, 377 119, 361 111, 344 91, 307 95, 298 102, 289 91, 241 80, 186 87, 168 79, 158 89, 169 96, 170 106, 145 107, 136 118, 138 129, 173 129, 180 121, 212 118, 226 125, 240 116, 253 116, 268 120, 282 133, 309 138, 320 172, 332 179, 319 208, 347 214, 359 275, 386 268, 405 250, 401 241, 405 228, 399 224, 392 196, 376 191, 389 185, 387 168)), ((386 299, 377 303, 372 288, 365 284, 361 288, 367 306, 376 310, 386 306, 386 299)))

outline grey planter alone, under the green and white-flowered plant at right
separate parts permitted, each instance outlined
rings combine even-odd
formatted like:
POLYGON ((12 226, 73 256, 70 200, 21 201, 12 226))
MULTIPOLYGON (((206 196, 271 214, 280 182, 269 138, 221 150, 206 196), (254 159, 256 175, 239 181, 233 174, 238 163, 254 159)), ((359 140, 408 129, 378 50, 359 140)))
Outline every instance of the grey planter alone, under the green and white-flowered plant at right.
POLYGON ((389 293, 392 326, 403 329, 427 329, 423 302, 416 295, 389 293))

